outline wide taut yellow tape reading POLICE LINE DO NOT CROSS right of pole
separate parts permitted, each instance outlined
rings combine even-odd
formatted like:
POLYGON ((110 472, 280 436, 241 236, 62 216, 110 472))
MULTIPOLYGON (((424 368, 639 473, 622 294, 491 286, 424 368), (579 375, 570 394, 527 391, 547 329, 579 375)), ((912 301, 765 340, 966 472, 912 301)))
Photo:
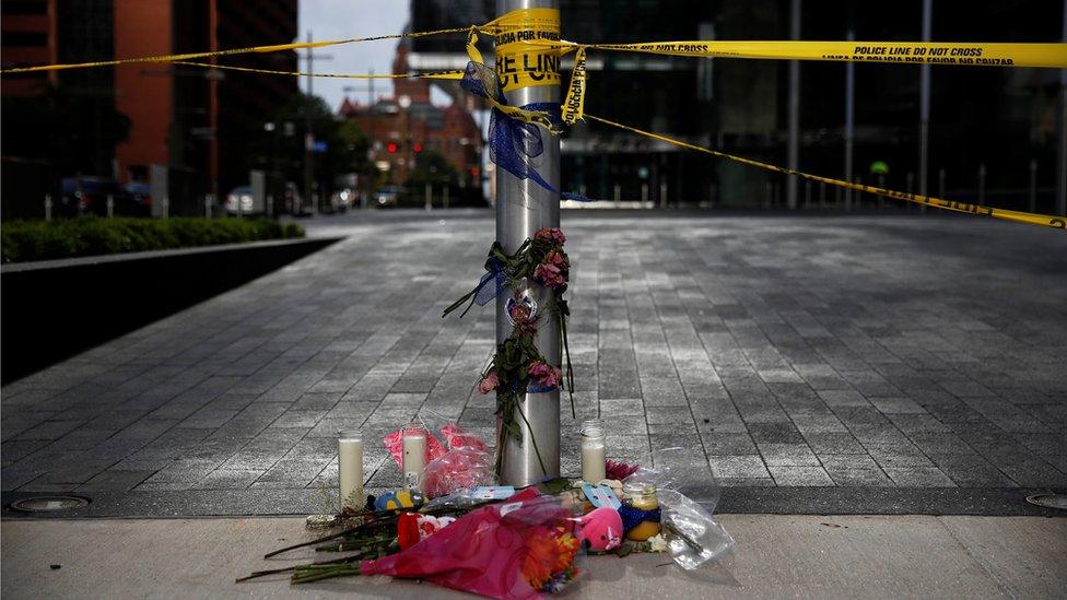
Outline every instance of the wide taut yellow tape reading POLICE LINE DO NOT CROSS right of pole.
POLYGON ((598 50, 705 58, 763 58, 853 62, 1067 68, 1067 44, 957 42, 649 42, 576 44, 598 50))

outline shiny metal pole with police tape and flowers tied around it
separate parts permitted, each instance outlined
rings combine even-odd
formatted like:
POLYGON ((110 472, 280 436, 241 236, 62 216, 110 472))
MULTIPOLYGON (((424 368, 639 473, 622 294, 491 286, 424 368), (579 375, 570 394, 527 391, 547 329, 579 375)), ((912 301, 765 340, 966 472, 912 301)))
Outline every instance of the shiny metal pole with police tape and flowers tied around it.
MULTIPOLYGON (((555 9, 559 0, 496 0, 496 14, 503 16, 520 9, 555 9)), ((559 13, 556 13, 558 15, 559 13)), ((556 19, 559 19, 556 16, 556 19)), ((555 25, 559 31, 559 21, 555 25)), ((497 55, 497 64, 501 56, 497 55)), ((521 59, 519 59, 521 60, 521 59)), ((549 67, 551 68, 551 67, 549 67)), ((506 89, 504 95, 512 106, 525 106, 540 102, 560 102, 559 83, 550 85, 515 86, 506 89)), ((534 158, 534 166, 546 181, 560 188, 560 138, 541 129, 544 151, 534 158)), ((514 252, 527 238, 542 227, 560 226, 560 196, 542 188, 530 179, 518 179, 507 170, 496 169, 496 240, 505 252, 514 252)), ((514 325, 507 315, 507 303, 529 298, 537 306, 538 320, 535 342, 544 358, 552 365, 561 363, 560 328, 556 319, 542 313, 552 298, 552 292, 530 280, 515 282, 512 290, 496 298, 496 341, 504 341, 512 334, 514 325)), ((521 420, 521 442, 505 436, 502 452, 503 463, 500 479, 506 485, 528 485, 555 478, 560 474, 560 390, 559 388, 532 392, 527 391, 519 402, 516 415, 521 420), (535 448, 535 443, 537 447, 535 448), (540 457, 540 459, 538 458, 540 457), (543 469, 542 469, 543 463, 543 469)), ((500 423, 497 423, 497 428, 500 423)))

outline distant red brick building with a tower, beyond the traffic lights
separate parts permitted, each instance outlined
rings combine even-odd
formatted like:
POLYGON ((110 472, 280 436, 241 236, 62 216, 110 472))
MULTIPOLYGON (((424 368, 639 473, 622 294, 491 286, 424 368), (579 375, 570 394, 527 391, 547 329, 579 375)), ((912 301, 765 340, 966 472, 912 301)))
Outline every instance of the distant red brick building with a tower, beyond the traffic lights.
MULTIPOLYGON (((392 62, 394 74, 408 73, 410 45, 401 42, 392 62)), ((470 106, 460 102, 435 106, 430 97, 430 80, 394 80, 394 97, 375 98, 373 106, 345 98, 338 114, 356 119, 360 128, 374 141, 373 160, 388 165, 388 179, 403 184, 420 152, 435 151, 459 173, 465 185, 479 181, 482 137, 471 116, 470 106), (401 106, 407 96, 410 104, 401 106), (390 151, 391 150, 391 151, 390 151)), ((461 96, 462 102, 469 98, 461 96)))

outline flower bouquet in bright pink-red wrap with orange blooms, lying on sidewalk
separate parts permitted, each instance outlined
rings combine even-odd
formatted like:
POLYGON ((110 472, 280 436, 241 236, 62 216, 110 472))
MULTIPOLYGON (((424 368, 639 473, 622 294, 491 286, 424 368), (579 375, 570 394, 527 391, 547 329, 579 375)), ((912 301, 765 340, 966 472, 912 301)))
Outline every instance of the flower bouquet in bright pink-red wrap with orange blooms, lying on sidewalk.
POLYGON ((555 496, 524 490, 483 506, 407 550, 364 561, 360 573, 425 579, 490 598, 562 590, 581 574, 582 533, 555 496))

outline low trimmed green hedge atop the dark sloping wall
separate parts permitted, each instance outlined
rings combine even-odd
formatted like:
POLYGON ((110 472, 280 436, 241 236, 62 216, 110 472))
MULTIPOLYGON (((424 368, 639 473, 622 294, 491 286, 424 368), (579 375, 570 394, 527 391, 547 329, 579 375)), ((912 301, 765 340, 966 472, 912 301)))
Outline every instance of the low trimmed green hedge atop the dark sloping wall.
POLYGON ((304 237, 295 223, 269 219, 78 219, 0 225, 3 262, 140 252, 304 237))

